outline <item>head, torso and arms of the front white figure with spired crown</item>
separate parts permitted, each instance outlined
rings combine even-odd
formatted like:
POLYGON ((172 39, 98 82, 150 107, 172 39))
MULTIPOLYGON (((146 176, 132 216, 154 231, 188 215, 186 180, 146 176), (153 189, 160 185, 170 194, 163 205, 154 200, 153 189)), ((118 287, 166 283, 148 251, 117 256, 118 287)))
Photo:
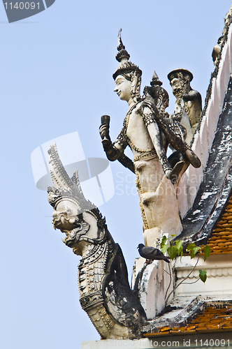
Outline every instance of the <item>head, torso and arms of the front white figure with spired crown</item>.
MULTIPOLYGON (((171 168, 170 163, 166 157, 166 151, 163 147, 163 141, 159 133, 159 128, 156 121, 152 122, 154 119, 154 114, 157 114, 157 107, 153 103, 153 109, 150 105, 143 101, 140 98, 140 83, 142 71, 138 66, 129 61, 129 53, 125 50, 124 45, 121 40, 121 31, 119 31, 119 44, 117 50, 117 61, 119 61, 119 66, 115 73, 113 74, 115 80, 115 92, 122 101, 126 101, 129 105, 129 111, 126 114, 124 120, 124 128, 119 134, 114 145, 110 141, 108 128, 106 124, 102 124, 100 128, 101 138, 103 139, 103 147, 106 151, 106 154, 110 161, 114 161, 123 153, 127 145, 129 145, 133 151, 133 155, 136 160, 140 158, 159 158, 161 166, 166 174, 168 179, 173 177, 173 169, 171 168), (136 114, 140 114, 141 117, 135 118, 136 114), (131 120, 132 123, 130 122, 131 120), (139 120, 139 121, 138 121, 139 120), (136 147, 133 139, 134 135, 130 136, 130 131, 134 133, 133 129, 138 127, 138 122, 142 125, 143 129, 143 139, 138 140, 140 147, 136 147), (128 129, 129 126, 129 129, 128 129), (131 128, 131 130, 130 130, 131 128), (142 149, 144 148, 144 149, 142 149)), ((137 136, 137 135, 136 135, 137 136)), ((135 160, 134 159, 134 160, 135 160)))

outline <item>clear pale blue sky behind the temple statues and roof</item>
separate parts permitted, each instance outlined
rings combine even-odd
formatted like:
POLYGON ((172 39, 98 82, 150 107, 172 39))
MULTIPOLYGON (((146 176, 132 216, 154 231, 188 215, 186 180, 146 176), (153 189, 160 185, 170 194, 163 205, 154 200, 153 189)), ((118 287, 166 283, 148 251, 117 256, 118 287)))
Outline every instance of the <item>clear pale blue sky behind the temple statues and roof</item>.
MULTIPOLYGON (((111 116, 114 140, 127 110, 113 92, 121 27, 131 61, 143 70, 143 87, 154 69, 164 82, 169 112, 175 98, 166 75, 175 68, 191 70, 191 86, 204 101, 214 70, 212 47, 230 5, 230 0, 56 0, 40 14, 8 24, 0 4, 0 348, 80 348, 81 341, 99 339, 78 300, 79 258, 52 228, 52 207, 34 184, 31 152, 78 131, 85 156, 104 157, 101 114, 111 116)), ((119 163, 111 168, 115 196, 101 211, 131 274, 143 242, 138 196, 134 184, 126 184, 129 172, 119 163), (117 191, 119 175, 123 195, 117 191)))

